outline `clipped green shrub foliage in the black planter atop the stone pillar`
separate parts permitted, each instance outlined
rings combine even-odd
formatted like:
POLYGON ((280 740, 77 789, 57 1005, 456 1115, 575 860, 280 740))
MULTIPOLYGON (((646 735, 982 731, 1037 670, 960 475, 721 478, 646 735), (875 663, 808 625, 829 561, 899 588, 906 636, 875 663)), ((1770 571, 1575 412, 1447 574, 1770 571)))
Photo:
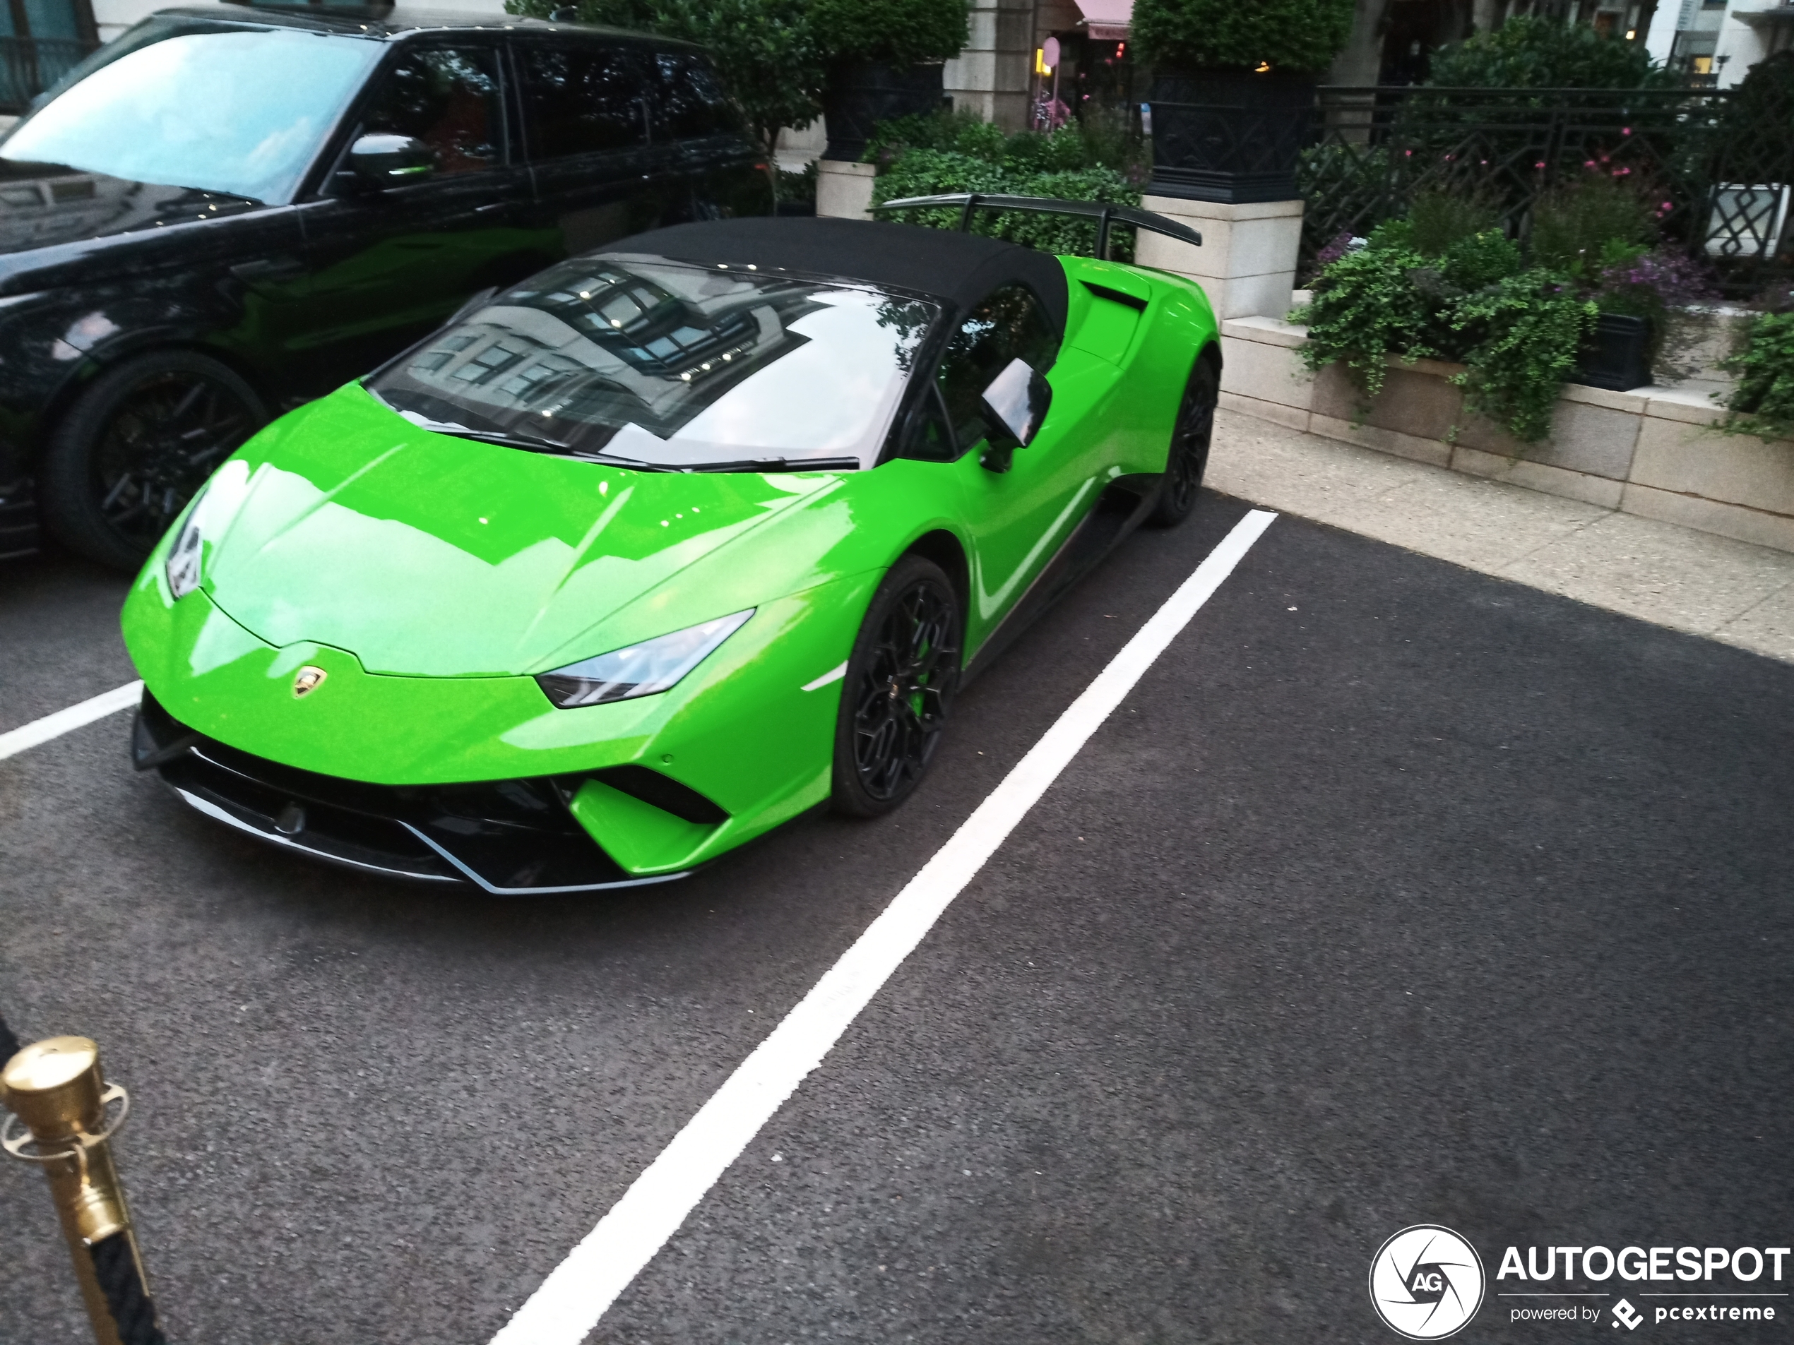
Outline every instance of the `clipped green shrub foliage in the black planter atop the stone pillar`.
POLYGON ((1136 0, 1134 41, 1182 68, 1326 70, 1351 36, 1353 0, 1136 0))

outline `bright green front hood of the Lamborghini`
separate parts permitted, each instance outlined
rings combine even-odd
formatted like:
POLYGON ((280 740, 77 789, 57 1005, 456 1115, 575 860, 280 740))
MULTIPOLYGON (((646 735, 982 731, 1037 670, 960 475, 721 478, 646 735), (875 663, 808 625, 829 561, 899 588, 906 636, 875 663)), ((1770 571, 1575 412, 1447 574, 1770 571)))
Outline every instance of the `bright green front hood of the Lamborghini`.
POLYGON ((398 676, 542 672, 739 612, 727 603, 745 594, 752 606, 791 592, 807 570, 797 558, 766 574, 777 594, 755 595, 752 572, 727 567, 730 583, 709 586, 716 612, 687 572, 838 486, 827 473, 630 472, 434 434, 359 384, 251 439, 213 490, 231 473, 242 502, 208 536, 212 601, 273 646, 314 640, 398 676), (662 588, 678 601, 640 601, 662 588), (630 629, 657 620, 673 624, 630 629), (610 642, 585 647, 587 633, 610 642))

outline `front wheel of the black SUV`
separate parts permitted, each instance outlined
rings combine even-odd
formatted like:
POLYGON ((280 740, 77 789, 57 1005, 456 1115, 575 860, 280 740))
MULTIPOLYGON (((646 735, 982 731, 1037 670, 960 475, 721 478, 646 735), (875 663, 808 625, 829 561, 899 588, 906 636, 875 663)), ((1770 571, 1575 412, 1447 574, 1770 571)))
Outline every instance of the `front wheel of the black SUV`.
POLYGON ((212 470, 267 423, 242 378, 187 350, 136 355, 88 386, 50 436, 43 520, 70 551, 136 568, 212 470))

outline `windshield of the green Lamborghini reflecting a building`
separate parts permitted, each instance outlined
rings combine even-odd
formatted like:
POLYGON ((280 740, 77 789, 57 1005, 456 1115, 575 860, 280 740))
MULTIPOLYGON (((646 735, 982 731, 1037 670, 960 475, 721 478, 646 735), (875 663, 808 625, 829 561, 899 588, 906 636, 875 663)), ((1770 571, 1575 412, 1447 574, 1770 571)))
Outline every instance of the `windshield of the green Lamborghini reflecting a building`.
POLYGON ((667 468, 872 466, 938 305, 662 256, 562 262, 368 380, 409 420, 667 468))

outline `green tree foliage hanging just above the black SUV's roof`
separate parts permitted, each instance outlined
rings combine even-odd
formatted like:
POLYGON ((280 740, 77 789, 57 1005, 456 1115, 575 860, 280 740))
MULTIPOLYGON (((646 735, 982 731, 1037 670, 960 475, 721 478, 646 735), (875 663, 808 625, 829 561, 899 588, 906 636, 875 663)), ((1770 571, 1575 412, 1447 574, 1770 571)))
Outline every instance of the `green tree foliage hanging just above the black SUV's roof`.
MULTIPOLYGON (((547 18, 563 0, 504 0, 509 14, 547 18)), ((576 22, 658 32, 709 48, 768 154, 780 126, 822 111, 822 52, 804 0, 578 0, 576 22)))

